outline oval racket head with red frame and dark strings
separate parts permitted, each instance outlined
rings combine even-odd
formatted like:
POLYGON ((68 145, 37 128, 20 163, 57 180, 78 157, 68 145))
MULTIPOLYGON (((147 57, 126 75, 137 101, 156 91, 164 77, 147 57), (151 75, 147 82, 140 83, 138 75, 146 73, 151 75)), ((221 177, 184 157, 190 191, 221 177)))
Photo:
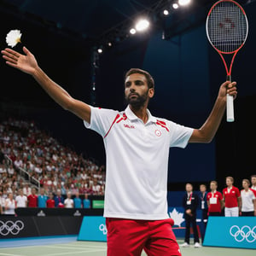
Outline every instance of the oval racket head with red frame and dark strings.
POLYGON ((209 42, 219 53, 235 53, 247 40, 247 15, 236 1, 220 0, 209 10, 206 30, 209 42))

